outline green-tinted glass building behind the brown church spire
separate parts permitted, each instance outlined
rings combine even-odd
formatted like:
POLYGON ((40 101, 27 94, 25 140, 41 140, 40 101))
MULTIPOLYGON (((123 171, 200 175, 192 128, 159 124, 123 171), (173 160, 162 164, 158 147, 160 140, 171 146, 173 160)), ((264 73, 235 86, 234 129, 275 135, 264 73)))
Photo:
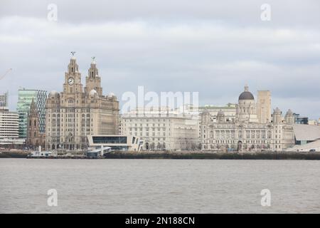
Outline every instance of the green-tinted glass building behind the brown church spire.
POLYGON ((18 103, 16 111, 19 115, 19 138, 26 138, 28 111, 32 99, 36 103, 39 115, 39 128, 41 133, 46 132, 46 90, 28 90, 25 88, 18 90, 18 103))

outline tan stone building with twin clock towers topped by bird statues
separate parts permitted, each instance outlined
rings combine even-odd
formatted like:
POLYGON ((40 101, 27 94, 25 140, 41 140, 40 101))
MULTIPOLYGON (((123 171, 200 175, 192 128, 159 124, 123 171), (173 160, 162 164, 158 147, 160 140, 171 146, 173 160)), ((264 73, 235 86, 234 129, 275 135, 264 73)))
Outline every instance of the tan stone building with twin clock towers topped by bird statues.
POLYGON ((50 92, 46 101, 46 149, 85 149, 86 135, 114 135, 118 131, 119 102, 113 93, 102 95, 95 59, 83 89, 73 56, 65 72, 63 92, 50 92))

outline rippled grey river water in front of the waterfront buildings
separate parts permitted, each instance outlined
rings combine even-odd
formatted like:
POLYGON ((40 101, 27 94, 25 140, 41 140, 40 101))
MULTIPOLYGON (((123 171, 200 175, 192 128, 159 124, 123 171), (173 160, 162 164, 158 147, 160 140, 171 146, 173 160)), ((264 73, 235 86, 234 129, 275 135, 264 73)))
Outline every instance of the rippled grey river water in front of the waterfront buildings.
POLYGON ((320 212, 320 161, 0 159, 0 213, 289 212, 320 212))

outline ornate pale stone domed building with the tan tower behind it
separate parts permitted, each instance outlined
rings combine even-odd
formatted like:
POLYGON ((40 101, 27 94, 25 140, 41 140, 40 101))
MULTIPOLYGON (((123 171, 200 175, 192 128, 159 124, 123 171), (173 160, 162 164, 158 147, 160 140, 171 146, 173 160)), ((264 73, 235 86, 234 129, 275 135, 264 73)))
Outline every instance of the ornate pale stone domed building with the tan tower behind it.
POLYGON ((284 150, 294 145, 294 115, 288 110, 284 118, 279 108, 271 115, 270 91, 258 91, 257 103, 245 86, 236 105, 234 118, 201 113, 201 147, 203 150, 284 150))

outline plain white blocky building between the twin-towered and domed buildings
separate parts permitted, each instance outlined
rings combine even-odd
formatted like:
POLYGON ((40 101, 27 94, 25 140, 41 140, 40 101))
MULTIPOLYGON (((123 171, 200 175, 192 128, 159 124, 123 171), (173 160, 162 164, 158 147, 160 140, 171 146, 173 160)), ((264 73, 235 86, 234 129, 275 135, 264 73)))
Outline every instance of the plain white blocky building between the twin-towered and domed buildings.
POLYGON ((122 135, 144 141, 143 150, 198 148, 198 116, 169 107, 136 108, 122 114, 122 135))

